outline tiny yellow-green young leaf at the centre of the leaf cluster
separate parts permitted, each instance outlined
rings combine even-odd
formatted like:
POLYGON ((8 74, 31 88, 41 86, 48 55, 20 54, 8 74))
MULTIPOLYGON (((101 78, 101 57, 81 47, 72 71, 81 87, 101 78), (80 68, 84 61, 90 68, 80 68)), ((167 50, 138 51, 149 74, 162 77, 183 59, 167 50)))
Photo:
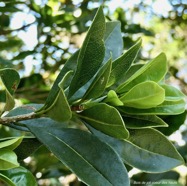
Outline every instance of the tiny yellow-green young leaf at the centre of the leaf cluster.
POLYGON ((110 90, 107 94, 107 98, 104 100, 105 103, 113 106, 123 106, 123 102, 118 98, 118 95, 114 90, 110 90))

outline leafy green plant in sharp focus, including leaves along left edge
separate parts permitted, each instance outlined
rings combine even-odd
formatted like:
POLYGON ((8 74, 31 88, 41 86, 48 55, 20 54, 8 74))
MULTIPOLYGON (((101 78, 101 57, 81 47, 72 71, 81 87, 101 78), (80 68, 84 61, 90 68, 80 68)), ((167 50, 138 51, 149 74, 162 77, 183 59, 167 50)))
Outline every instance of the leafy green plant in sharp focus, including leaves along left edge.
POLYGON ((19 75, 1 70, 0 123, 32 133, 40 143, 26 152, 22 144, 37 141, 33 137, 1 139, 0 179, 37 185, 17 157, 28 157, 41 144, 93 186, 130 185, 125 165, 151 173, 182 165, 174 145, 155 128, 168 127, 163 116, 184 113, 185 96, 165 82, 164 53, 144 65, 134 63, 141 42, 122 54, 120 22, 105 22, 99 8, 81 49, 66 62, 43 105, 13 109, 19 75))

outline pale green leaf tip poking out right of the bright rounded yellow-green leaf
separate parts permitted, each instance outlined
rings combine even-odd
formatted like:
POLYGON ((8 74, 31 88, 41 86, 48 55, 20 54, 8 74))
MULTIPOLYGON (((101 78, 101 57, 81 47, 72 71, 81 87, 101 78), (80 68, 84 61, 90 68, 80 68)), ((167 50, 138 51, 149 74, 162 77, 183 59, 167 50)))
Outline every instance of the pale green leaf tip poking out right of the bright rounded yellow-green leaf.
POLYGON ((185 95, 177 88, 166 84, 161 84, 160 86, 165 90, 166 101, 180 101, 185 99, 185 95))

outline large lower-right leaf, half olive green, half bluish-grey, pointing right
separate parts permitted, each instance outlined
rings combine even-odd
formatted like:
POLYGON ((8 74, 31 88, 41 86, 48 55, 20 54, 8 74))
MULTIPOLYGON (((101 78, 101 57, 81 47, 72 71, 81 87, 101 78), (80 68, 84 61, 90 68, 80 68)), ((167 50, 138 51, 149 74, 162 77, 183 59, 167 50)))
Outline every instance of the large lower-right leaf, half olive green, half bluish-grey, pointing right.
POLYGON ((124 163, 144 172, 166 172, 184 164, 174 145, 155 129, 130 130, 128 140, 118 140, 87 126, 100 140, 109 144, 124 163))

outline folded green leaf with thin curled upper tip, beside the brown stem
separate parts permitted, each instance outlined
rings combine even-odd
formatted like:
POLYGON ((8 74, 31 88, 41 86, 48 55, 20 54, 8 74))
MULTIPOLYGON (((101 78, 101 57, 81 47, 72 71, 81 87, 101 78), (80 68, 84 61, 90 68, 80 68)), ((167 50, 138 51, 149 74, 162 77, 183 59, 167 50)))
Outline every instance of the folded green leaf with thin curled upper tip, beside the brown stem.
POLYGON ((69 75, 71 75, 71 71, 67 72, 62 81, 59 83, 60 92, 58 93, 56 100, 54 100, 53 105, 51 105, 51 107, 49 107, 47 110, 43 111, 43 113, 45 113, 47 116, 59 122, 68 121, 72 117, 71 108, 63 90, 64 82, 69 75))

